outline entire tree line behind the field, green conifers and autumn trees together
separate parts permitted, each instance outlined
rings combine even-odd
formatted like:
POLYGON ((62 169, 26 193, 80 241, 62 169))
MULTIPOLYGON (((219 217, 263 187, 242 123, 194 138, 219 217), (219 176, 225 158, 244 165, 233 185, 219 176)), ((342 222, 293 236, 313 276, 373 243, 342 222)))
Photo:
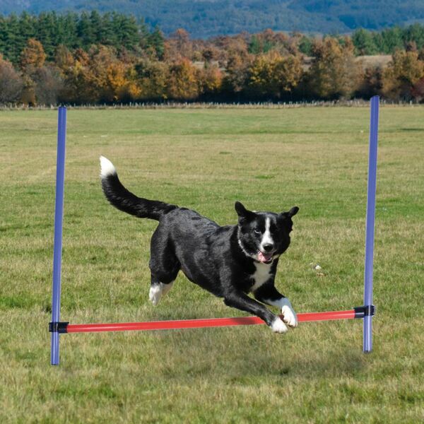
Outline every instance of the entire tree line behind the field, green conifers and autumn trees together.
POLYGON ((351 37, 165 37, 120 13, 0 17, 0 103, 424 98, 424 26, 351 37), (362 54, 391 53, 388 64, 362 54))

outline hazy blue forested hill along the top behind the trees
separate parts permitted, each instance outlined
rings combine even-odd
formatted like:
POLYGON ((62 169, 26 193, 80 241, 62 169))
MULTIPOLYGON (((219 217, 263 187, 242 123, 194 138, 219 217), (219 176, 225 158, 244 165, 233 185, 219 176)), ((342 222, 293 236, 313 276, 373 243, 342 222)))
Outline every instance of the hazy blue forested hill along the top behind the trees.
POLYGON ((424 23, 423 0, 1 0, 0 13, 119 11, 192 37, 211 37, 266 28, 306 33, 349 33, 424 23))

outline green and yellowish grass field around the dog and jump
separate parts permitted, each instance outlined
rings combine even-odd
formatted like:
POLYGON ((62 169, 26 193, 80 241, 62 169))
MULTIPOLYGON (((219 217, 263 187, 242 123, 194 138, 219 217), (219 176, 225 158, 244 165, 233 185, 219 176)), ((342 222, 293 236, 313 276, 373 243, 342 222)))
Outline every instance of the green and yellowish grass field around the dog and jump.
MULTIPOLYGON (((148 302, 155 222, 107 204, 98 156, 136 194, 235 223, 299 206, 277 285, 298 312, 363 302, 367 108, 70 110, 61 318, 242 315, 179 276, 148 302), (311 264, 322 266, 317 273, 311 264)), ((0 423, 424 421, 424 109, 380 112, 374 351, 362 321, 69 334, 49 365, 56 111, 0 112, 0 423)))

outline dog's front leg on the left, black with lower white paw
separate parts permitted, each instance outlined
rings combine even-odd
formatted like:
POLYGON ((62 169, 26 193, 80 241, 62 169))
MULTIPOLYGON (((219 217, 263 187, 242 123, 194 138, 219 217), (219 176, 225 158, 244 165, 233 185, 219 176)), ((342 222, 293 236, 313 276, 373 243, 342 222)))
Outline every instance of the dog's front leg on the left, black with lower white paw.
POLYGON ((274 333, 285 333, 288 331, 287 326, 280 317, 267 310, 264 305, 256 300, 249 298, 246 293, 240 290, 231 290, 224 295, 225 305, 235 307, 239 310, 250 312, 266 322, 274 333))

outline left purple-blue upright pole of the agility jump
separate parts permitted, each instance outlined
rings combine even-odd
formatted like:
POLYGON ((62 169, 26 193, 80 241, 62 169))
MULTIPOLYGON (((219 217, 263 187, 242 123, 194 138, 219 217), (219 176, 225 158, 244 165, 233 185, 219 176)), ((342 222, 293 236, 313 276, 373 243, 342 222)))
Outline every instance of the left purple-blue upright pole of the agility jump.
POLYGON ((54 323, 60 320, 60 285, 62 227, 64 220, 66 107, 59 107, 57 122, 56 205, 54 209, 53 294, 52 294, 52 365, 59 365, 59 331, 54 323))

